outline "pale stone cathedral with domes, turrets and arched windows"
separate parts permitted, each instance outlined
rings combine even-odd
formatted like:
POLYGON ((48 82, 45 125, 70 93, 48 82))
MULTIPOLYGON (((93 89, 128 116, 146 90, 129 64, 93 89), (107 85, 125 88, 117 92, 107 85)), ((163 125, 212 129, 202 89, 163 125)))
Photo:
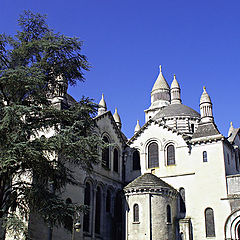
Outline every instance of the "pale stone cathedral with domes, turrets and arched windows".
MULTIPOLYGON (((145 124, 137 121, 127 139, 117 109, 108 111, 102 95, 95 134, 109 147, 99 149, 100 163, 91 174, 76 170, 81 186, 63 193, 89 207, 79 215, 80 231, 56 228, 50 234, 32 219, 32 238, 240 239, 240 129, 231 123, 223 136, 205 87, 199 100, 199 111, 182 104, 176 76, 169 86, 160 67, 145 124)), ((64 101, 74 100, 66 95, 64 101)))

